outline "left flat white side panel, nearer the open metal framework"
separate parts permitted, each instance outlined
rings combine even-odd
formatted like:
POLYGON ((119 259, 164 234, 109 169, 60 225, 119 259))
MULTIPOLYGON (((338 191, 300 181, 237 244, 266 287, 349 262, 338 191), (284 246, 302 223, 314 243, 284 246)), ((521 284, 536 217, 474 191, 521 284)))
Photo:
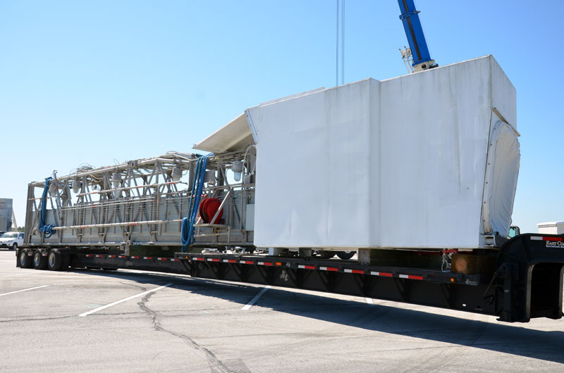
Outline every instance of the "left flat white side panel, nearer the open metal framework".
POLYGON ((258 134, 255 245, 369 246, 375 83, 247 110, 258 134))

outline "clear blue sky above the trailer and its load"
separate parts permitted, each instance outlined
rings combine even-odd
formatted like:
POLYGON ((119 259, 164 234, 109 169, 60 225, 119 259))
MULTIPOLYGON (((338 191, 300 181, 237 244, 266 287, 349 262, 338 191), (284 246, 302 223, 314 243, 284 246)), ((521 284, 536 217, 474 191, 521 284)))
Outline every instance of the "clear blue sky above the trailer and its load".
MULTIPOLYGON (((493 54, 517 89, 513 221, 564 220, 561 1, 419 0, 439 65, 493 54), (554 9, 554 11, 552 11, 554 9)), ((346 0, 345 82, 405 74, 396 0, 346 0)), ((190 151, 245 108, 335 85, 336 1, 0 0, 0 197, 190 151)))

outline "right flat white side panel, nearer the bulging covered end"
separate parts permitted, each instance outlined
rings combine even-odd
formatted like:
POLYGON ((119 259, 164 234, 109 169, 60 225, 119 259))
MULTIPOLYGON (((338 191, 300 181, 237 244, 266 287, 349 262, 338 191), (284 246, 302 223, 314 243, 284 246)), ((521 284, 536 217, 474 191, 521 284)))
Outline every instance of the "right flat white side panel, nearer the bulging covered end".
POLYGON ((381 83, 381 246, 479 245, 487 87, 487 58, 381 83))

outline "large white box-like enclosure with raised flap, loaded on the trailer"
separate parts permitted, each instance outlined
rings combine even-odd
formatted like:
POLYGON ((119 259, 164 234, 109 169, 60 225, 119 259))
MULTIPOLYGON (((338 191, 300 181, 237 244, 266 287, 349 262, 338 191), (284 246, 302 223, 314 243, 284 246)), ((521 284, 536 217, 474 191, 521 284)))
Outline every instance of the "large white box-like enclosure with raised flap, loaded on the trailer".
POLYGON ((263 103, 196 147, 256 144, 256 246, 482 248, 508 234, 517 137, 486 56, 263 103))

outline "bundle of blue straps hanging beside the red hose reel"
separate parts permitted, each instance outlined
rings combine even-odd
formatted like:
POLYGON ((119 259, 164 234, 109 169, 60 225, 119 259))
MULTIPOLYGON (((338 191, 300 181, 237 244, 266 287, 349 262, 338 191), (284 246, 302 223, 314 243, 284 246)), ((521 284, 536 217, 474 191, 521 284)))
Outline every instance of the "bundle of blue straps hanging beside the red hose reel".
POLYGON ((182 225, 180 226, 183 253, 194 242, 194 224, 198 215, 198 209, 200 208, 200 198, 202 197, 204 179, 206 178, 207 160, 211 156, 214 156, 214 154, 210 153, 206 156, 201 156, 196 163, 194 181, 192 182, 192 194, 190 194, 190 203, 188 203, 188 216, 182 220, 182 225))

